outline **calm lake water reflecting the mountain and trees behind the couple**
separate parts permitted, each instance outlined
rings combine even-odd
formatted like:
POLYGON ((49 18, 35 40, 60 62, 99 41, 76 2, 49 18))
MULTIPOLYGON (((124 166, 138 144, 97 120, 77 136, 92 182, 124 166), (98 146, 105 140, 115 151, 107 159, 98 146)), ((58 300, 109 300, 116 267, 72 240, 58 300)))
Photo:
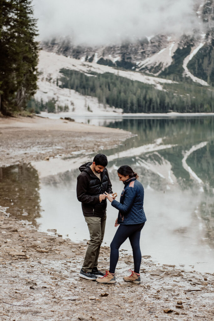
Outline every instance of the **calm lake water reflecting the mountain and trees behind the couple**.
MULTIPOLYGON (((118 195, 123 189, 117 177, 121 165, 130 165, 144 186, 147 222, 141 232, 142 255, 151 255, 160 264, 213 273, 214 117, 98 121, 136 134, 117 148, 97 152, 108 157, 107 169, 118 195)), ((92 159, 89 155, 88 160, 92 159)), ((79 173, 75 169, 39 179, 31 166, 2 168, 1 205, 9 206, 10 213, 32 221, 41 231, 57 229, 75 241, 88 239, 81 203, 76 199, 79 173)), ((107 245, 116 231, 116 217, 117 211, 109 203, 107 245)), ((131 251, 129 241, 122 249, 131 251)))

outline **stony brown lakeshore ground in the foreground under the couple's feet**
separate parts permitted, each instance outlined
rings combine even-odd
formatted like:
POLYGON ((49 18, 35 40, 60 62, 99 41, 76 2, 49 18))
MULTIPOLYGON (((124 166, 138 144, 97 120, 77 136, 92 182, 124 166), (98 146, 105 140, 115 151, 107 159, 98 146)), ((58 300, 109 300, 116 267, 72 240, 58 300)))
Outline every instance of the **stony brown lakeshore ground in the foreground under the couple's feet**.
MULTIPOLYGON (((99 285, 78 276, 86 241, 38 232, 7 211, 0 207, 2 321, 213 320, 213 274, 159 265, 144 256, 141 284, 126 283, 123 275, 133 268, 133 257, 121 250, 117 283, 99 285)), ((99 268, 108 266, 109 248, 104 246, 99 268)))

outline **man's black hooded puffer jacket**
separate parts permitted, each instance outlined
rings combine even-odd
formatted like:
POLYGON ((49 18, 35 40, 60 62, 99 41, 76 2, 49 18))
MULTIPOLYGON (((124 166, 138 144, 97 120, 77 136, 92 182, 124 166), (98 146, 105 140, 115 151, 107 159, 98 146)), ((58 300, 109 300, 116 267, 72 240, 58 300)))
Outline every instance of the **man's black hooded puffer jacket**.
POLYGON ((101 173, 101 181, 90 168, 92 162, 80 166, 80 175, 77 177, 77 199, 82 203, 84 216, 102 217, 106 213, 107 200, 99 202, 99 195, 112 193, 112 185, 106 168, 101 173))

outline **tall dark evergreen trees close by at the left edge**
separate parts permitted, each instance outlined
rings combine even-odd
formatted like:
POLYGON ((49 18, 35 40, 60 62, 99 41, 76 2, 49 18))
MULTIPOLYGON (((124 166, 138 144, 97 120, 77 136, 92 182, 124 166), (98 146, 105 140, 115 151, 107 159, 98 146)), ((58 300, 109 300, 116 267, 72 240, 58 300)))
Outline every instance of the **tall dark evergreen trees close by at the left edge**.
POLYGON ((0 1, 0 112, 25 109, 37 89, 39 43, 31 0, 0 1))

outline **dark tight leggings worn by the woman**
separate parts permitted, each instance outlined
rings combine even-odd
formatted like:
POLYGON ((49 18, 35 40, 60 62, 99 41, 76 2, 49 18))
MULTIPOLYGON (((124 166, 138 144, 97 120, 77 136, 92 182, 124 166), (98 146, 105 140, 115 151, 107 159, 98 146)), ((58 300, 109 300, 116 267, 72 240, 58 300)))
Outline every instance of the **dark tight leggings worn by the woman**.
POLYGON ((119 248, 129 238, 132 250, 133 250, 133 259, 134 259, 134 272, 140 273, 141 266, 141 249, 140 249, 140 236, 141 230, 144 226, 144 223, 141 224, 132 224, 132 225, 123 225, 120 224, 118 227, 114 239, 110 244, 111 253, 110 253, 110 273, 115 273, 117 261, 119 258, 119 248))

